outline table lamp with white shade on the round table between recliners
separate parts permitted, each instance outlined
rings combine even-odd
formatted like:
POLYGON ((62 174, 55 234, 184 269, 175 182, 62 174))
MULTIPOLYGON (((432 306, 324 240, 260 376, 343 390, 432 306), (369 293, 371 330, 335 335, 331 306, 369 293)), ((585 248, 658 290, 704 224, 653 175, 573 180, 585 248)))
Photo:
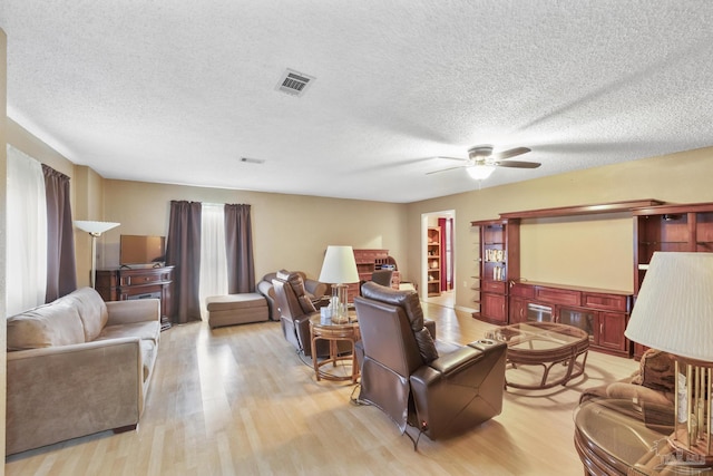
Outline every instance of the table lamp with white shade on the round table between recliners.
POLYGON ((328 246, 320 281, 332 283, 332 322, 349 322, 346 283, 359 282, 354 250, 351 246, 328 246))

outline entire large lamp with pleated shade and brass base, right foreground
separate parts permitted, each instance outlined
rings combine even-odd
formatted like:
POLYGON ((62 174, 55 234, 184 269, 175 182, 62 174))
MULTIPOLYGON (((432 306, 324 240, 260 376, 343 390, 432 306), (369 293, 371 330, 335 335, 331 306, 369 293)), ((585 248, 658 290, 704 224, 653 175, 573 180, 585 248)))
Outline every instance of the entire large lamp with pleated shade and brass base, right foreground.
POLYGON ((713 253, 654 253, 624 334, 674 356, 668 443, 687 464, 713 464, 713 253))

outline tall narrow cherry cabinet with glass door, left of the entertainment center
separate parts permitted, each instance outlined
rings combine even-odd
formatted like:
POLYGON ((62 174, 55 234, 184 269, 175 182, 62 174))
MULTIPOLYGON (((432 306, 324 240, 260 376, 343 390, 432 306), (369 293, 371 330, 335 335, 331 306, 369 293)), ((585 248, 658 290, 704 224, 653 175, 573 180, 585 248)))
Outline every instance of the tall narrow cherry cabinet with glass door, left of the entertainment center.
POLYGON ((520 221, 471 222, 480 229, 478 291, 480 311, 473 318, 495 324, 508 323, 508 280, 520 274, 520 221))

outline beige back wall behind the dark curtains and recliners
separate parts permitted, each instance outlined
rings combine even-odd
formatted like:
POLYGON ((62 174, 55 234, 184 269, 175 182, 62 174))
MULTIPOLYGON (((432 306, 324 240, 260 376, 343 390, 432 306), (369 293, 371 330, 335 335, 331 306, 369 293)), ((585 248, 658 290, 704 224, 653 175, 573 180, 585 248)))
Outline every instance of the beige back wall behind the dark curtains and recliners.
POLYGON ((172 200, 250 204, 256 280, 283 268, 318 278, 330 244, 387 249, 409 275, 402 204, 125 181, 105 181, 104 220, 121 226, 105 234, 101 265, 119 264, 121 234, 166 235, 172 200))

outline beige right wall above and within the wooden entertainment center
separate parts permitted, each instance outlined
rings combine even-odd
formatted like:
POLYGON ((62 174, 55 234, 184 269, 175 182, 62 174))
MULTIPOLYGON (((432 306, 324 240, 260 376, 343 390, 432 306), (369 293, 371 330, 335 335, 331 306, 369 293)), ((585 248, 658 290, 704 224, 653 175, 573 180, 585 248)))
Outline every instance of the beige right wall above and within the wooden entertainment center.
MULTIPOLYGON (((500 171, 499 173, 507 173, 500 171)), ((421 214, 456 211, 456 285, 459 308, 473 309, 477 229, 471 221, 500 213, 639 198, 713 202, 713 147, 572 172, 408 205, 408 233, 418 235, 421 214)), ((627 215, 528 220, 521 229, 521 274, 533 281, 631 291, 633 222, 627 215)), ((421 243, 410 241, 409 266, 421 243)))

